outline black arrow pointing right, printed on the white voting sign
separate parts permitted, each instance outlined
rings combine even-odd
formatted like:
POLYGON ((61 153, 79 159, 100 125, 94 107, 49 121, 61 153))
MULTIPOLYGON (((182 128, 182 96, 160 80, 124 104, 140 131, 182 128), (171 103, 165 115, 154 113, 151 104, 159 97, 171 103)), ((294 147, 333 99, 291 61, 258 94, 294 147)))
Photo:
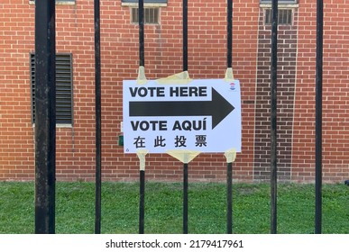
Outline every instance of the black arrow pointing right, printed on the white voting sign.
POLYGON ((212 116, 212 129, 234 106, 212 87, 211 101, 130 102, 129 116, 212 116))

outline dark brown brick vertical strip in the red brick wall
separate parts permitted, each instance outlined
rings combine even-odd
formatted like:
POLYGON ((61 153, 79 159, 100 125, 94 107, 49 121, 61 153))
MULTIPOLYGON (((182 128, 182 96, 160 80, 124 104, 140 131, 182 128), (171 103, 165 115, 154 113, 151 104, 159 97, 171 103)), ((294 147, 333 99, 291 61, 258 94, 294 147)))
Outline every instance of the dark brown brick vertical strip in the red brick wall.
MULTIPOLYGON (((280 6, 280 9, 282 6, 280 6)), ((278 28, 278 171, 280 180, 290 179, 292 125, 297 63, 298 8, 291 9, 292 22, 278 28)), ((254 179, 269 180, 271 167, 271 24, 260 10, 258 33, 257 91, 254 135, 254 179)))

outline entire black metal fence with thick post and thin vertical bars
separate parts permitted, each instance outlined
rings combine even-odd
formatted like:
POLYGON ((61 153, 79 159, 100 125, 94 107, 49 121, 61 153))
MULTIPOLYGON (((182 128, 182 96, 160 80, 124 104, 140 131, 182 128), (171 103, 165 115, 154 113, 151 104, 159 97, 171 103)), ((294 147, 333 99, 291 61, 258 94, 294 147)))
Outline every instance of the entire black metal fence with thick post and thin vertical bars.
MULTIPOLYGON (((96 219, 101 232, 101 57, 100 3, 95 5, 96 63, 96 219)), ((143 0, 139 0, 140 67, 144 67, 143 0)), ((277 66, 278 0, 271 1, 271 233, 277 233, 277 66)), ((233 0, 227 0, 227 67, 232 67, 233 0)), ((55 0, 35 6, 35 233, 55 232, 55 0)), ((321 233, 322 217, 322 67, 323 0, 317 0, 316 68, 316 209, 315 232, 321 233)), ((188 71, 188 0, 183 0, 183 71, 188 71)), ((232 163, 227 164, 226 232, 233 232, 232 163)), ((144 232, 144 171, 140 171, 139 232, 144 232)), ((183 233, 188 233, 188 164, 183 166, 183 233)))

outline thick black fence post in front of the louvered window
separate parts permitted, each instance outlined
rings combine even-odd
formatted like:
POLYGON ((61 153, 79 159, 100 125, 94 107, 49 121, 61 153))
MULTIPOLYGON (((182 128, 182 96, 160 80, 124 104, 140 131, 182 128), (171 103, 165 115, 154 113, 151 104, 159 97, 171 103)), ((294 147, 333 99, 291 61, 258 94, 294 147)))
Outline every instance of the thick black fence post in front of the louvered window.
POLYGON ((35 4, 35 233, 55 233, 55 0, 35 4))

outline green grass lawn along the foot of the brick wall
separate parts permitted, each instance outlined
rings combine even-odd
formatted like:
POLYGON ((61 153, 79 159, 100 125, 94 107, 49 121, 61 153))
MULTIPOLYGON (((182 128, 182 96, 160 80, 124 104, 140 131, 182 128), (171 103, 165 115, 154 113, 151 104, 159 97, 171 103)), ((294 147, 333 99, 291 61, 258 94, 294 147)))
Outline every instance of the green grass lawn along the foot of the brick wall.
MULTIPOLYGON (((137 233, 139 185, 104 183, 102 233, 137 233)), ((56 184, 56 233, 93 233, 95 185, 56 184)), ((34 184, 0 183, 0 233, 33 233, 34 184)), ((278 232, 313 233, 314 184, 278 185, 278 232)), ((189 233, 225 233, 225 184, 189 184, 189 233)), ((270 232, 270 185, 234 184, 234 233, 270 232)), ((323 232, 349 233, 349 187, 323 185, 323 232)), ((182 185, 147 183, 145 232, 182 232, 182 185)))

